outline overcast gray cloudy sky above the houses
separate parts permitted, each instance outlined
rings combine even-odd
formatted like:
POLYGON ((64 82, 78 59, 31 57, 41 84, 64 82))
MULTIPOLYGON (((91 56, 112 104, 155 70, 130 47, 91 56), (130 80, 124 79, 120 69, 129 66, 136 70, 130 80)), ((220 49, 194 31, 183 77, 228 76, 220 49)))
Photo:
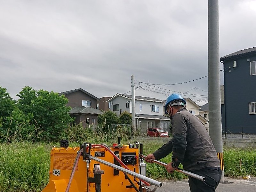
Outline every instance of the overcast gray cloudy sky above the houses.
MULTIPOLYGON (((187 92, 182 96, 207 102, 207 0, 0 0, 0 5, 0 86, 14 99, 25 86, 54 92, 82 88, 111 97, 130 91, 134 75, 138 96, 165 100, 172 92, 187 92), (178 85, 143 84, 201 77, 178 85)), ((256 0, 219 1, 220 57, 256 46, 255 19, 256 0)))

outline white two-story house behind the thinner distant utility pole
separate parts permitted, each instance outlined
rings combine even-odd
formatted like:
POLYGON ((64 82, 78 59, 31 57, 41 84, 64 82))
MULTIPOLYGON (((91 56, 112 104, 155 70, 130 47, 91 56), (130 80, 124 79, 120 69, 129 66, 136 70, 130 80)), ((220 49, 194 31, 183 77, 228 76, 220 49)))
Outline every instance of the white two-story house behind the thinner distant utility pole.
MULTIPOLYGON (((117 116, 124 111, 132 113, 131 95, 117 93, 108 102, 110 110, 114 111, 117 116)), ((169 129, 170 119, 164 116, 163 107, 164 101, 162 100, 135 96, 136 129, 141 135, 146 135, 148 128, 169 129)))

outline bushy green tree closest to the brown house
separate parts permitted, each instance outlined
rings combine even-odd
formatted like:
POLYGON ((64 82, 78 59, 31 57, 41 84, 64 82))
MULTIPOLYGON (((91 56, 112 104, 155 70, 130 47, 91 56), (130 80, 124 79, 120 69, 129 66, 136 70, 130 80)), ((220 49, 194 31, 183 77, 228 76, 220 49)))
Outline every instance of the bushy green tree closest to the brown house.
POLYGON ((40 138, 45 141, 57 141, 74 121, 69 116, 70 107, 64 95, 44 90, 35 91, 31 87, 24 87, 18 100, 18 107, 26 115, 32 115, 31 124, 40 132, 40 138))

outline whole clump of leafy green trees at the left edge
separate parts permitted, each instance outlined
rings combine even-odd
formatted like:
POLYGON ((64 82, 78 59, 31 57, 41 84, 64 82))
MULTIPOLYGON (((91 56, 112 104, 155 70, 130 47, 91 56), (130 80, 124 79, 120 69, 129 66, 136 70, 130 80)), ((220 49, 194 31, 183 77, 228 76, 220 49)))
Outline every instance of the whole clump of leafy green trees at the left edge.
POLYGON ((58 141, 74 121, 64 95, 26 86, 12 100, 0 86, 0 141, 58 141))

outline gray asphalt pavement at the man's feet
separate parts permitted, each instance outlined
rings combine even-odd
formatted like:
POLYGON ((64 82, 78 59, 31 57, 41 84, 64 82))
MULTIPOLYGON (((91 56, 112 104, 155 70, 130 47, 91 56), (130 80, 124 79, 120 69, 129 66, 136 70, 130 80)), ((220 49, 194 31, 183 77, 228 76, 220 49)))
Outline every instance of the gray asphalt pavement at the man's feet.
MULTIPOLYGON (((182 181, 161 181, 163 186, 156 189, 156 192, 190 192, 188 180, 182 181)), ((150 186, 153 188, 153 186, 150 186)), ((256 177, 251 179, 230 179, 225 177, 224 182, 220 182, 216 192, 256 192, 256 177)))

